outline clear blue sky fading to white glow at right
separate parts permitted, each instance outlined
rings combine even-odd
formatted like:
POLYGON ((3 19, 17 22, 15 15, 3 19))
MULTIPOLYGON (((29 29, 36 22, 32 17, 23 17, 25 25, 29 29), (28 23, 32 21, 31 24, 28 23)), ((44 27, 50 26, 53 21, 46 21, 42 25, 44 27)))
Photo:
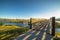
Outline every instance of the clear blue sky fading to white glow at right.
POLYGON ((58 0, 0 0, 0 18, 60 17, 58 0))

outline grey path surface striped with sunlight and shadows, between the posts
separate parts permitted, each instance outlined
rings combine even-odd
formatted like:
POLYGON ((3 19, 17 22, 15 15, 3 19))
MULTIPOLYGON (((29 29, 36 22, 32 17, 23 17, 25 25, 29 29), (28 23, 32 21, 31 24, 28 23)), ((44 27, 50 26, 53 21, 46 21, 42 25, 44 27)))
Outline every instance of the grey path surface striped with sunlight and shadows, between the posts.
POLYGON ((33 24, 33 26, 36 26, 34 30, 29 30, 14 40, 53 40, 50 35, 49 22, 38 22, 33 24))

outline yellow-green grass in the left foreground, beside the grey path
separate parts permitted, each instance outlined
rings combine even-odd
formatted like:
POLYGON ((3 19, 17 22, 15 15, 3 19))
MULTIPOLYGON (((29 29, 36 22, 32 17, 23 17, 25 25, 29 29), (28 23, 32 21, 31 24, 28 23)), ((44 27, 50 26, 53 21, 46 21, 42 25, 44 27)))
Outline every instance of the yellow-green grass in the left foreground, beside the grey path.
POLYGON ((0 26, 0 40, 12 40, 28 31, 28 28, 18 26, 0 26))

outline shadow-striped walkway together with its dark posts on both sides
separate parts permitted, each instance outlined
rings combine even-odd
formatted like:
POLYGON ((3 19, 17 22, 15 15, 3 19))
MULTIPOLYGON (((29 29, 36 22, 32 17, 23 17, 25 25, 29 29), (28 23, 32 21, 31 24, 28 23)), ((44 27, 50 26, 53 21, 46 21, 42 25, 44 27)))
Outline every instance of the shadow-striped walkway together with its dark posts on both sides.
POLYGON ((36 22, 31 24, 30 30, 22 35, 19 35, 14 40, 53 40, 55 36, 55 17, 44 22, 36 22), (35 27, 32 29, 32 25, 35 27))

